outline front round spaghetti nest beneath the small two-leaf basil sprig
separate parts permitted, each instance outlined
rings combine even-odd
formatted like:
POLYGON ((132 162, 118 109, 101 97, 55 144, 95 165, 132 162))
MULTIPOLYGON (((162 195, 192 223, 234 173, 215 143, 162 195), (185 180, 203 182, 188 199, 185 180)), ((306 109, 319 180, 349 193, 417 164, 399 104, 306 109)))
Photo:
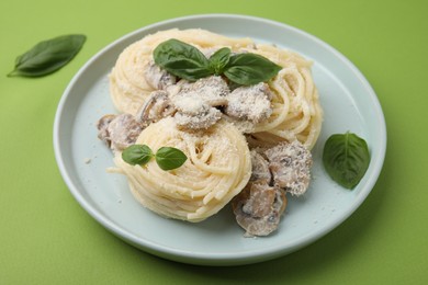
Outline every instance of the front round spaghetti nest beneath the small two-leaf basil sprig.
POLYGON ((236 127, 221 122, 209 132, 187 133, 171 117, 149 125, 136 144, 157 150, 181 149, 188 161, 172 171, 155 161, 131 166, 115 153, 119 172, 128 179, 135 198, 159 215, 200 221, 222 209, 247 184, 251 160, 245 137, 236 127))

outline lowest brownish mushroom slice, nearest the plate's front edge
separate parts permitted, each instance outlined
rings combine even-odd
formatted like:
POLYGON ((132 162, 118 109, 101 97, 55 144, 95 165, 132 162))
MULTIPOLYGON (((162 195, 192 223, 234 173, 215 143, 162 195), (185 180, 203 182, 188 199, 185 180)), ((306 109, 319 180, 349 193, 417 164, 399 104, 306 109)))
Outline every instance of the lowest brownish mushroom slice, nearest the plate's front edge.
POLYGON ((278 228, 286 197, 278 187, 250 182, 233 198, 232 206, 247 237, 268 236, 278 228))

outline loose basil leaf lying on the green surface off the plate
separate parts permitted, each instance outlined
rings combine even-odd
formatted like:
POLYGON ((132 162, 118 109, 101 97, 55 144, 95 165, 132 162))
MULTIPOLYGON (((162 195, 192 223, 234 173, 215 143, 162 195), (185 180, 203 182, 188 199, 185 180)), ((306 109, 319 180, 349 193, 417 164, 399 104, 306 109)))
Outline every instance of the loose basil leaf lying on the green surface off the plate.
POLYGON ((81 49, 85 35, 63 35, 36 44, 16 57, 15 68, 8 77, 42 77, 68 64, 81 49))

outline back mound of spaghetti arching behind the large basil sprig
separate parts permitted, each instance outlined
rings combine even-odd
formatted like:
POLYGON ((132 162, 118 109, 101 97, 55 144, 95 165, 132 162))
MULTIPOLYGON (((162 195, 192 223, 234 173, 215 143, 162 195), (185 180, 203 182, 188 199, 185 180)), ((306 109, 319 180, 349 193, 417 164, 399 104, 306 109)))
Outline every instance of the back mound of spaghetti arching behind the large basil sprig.
POLYGON ((135 114, 154 90, 145 80, 144 70, 153 59, 153 50, 161 42, 177 38, 200 49, 229 47, 234 53, 259 54, 283 67, 269 83, 273 91, 272 115, 251 132, 259 145, 300 140, 312 148, 320 133, 323 112, 311 75, 311 61, 296 53, 272 45, 256 44, 250 38, 229 38, 204 30, 168 30, 148 35, 128 46, 113 68, 111 96, 116 109, 135 114))

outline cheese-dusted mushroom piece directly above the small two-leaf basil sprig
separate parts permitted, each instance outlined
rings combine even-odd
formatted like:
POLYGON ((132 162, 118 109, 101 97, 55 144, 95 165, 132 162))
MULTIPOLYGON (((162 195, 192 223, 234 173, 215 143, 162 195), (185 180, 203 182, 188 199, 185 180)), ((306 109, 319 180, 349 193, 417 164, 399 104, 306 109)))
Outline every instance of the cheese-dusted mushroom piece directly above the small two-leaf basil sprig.
POLYGON ((106 128, 110 147, 113 150, 123 150, 134 145, 143 128, 143 125, 131 114, 115 116, 106 128))

